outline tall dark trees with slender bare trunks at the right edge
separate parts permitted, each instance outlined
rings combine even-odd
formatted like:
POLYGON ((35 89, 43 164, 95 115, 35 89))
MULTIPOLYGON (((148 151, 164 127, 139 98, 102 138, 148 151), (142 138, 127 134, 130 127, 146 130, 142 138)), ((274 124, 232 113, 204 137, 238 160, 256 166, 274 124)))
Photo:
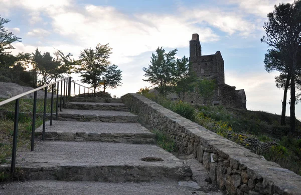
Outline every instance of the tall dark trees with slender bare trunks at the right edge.
MULTIPOLYGON (((281 124, 285 124, 286 93, 290 86, 290 131, 295 131, 295 83, 300 75, 301 53, 301 1, 281 3, 274 6, 274 11, 267 14, 268 22, 264 22, 266 36, 262 42, 271 49, 265 54, 267 71, 280 71, 281 77, 276 77, 279 86, 284 86, 281 124), (290 82, 290 83, 289 83, 290 82)), ((297 87, 298 88, 298 87, 297 87)))

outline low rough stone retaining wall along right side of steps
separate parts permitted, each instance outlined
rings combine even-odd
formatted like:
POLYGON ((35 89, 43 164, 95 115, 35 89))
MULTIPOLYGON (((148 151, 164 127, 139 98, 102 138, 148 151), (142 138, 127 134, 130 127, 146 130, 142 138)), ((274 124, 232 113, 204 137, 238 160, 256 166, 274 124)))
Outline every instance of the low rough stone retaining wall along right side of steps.
POLYGON ((179 152, 194 154, 212 182, 230 194, 301 194, 301 176, 164 108, 148 98, 122 97, 139 120, 175 138, 179 152))

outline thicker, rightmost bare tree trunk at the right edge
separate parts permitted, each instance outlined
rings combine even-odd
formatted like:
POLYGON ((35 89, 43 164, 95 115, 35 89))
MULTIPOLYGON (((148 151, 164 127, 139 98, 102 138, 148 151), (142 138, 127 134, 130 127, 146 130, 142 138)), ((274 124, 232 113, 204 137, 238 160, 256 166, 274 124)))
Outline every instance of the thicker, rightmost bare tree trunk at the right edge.
POLYGON ((290 81, 290 124, 289 130, 290 132, 295 131, 295 68, 296 68, 296 56, 293 55, 292 58, 292 68, 291 68, 291 81, 290 81))

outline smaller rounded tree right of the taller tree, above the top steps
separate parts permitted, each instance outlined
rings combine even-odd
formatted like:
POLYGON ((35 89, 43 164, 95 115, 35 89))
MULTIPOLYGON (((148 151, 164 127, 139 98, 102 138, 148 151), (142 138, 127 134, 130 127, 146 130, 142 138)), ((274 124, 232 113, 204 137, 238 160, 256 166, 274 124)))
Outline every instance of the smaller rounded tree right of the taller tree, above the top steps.
POLYGON ((109 88, 116 88, 117 86, 120 86, 122 84, 121 79, 121 70, 117 69, 117 65, 109 65, 102 77, 102 80, 104 80, 103 85, 103 92, 105 92, 105 89, 107 87, 109 88))

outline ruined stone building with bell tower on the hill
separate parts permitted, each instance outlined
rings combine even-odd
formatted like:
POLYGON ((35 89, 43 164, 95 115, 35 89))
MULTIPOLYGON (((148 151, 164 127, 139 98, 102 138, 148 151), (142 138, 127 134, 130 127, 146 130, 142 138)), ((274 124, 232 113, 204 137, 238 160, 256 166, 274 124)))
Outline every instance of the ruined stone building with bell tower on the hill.
MULTIPOLYGON (((214 96, 207 101, 212 105, 224 105, 226 107, 246 109, 246 94, 244 89, 236 90, 235 86, 225 84, 224 60, 220 51, 215 54, 202 55, 202 46, 199 34, 192 34, 190 40, 190 71, 201 78, 215 79, 217 88, 214 96)), ((192 103, 202 103, 197 92, 191 92, 186 101, 192 103)))

